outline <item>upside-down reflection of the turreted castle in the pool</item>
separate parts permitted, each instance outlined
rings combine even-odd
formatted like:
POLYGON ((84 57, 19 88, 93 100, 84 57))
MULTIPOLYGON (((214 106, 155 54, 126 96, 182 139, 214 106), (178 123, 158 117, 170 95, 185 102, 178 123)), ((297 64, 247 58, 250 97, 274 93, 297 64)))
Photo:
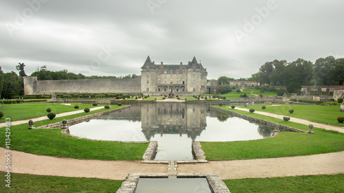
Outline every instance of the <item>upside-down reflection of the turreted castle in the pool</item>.
POLYGON ((206 110, 206 105, 199 104, 144 104, 141 106, 142 133, 148 141, 157 133, 187 134, 195 140, 206 129, 206 110))

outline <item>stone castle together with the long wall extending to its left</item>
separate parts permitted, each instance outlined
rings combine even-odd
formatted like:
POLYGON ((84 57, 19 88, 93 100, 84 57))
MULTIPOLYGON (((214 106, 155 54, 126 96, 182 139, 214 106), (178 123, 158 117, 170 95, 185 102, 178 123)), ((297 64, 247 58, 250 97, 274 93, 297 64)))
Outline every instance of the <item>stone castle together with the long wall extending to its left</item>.
POLYGON ((143 95, 202 95, 208 73, 196 58, 188 65, 155 65, 147 57, 141 77, 125 79, 37 80, 24 77, 25 95, 52 93, 127 93, 143 95))

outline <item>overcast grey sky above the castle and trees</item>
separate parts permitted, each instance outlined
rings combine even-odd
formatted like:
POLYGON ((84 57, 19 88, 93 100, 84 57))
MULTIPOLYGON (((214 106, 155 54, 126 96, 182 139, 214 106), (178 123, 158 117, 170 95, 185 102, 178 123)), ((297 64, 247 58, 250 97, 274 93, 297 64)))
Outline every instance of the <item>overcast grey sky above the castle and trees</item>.
POLYGON ((344 1, 0 0, 0 66, 86 76, 187 64, 248 78, 267 61, 344 57, 344 1))

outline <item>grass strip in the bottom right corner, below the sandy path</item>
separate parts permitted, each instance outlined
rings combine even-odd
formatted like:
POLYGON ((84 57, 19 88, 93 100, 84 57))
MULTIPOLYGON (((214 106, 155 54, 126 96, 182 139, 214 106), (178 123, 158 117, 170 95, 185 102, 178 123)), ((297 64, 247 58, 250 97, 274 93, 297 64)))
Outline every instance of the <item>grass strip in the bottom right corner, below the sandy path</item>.
POLYGON ((344 192, 344 174, 224 180, 230 192, 344 192))

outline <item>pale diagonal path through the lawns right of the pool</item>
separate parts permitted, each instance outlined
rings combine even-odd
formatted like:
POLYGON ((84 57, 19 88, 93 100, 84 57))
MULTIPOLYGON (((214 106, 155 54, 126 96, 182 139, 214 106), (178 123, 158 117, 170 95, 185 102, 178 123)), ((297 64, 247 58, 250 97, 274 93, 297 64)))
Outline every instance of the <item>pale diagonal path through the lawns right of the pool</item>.
MULTIPOLYGON (((240 110, 240 111, 247 111, 249 112, 249 109, 244 109, 244 108, 240 108, 240 107, 235 107, 235 109, 240 110)), ((274 113, 267 113, 267 112, 263 112, 263 111, 255 111, 255 113, 259 114, 259 115, 266 115, 266 116, 270 116, 270 117, 275 117, 275 118, 279 118, 279 119, 283 119, 283 117, 286 117, 286 115, 277 115, 274 113)), ((334 126, 334 125, 330 125, 330 124, 321 124, 321 123, 317 123, 317 122, 310 122, 308 120, 302 120, 296 117, 290 117, 290 122, 296 122, 299 124, 305 124, 305 125, 309 125, 312 124, 314 127, 318 127, 318 128, 325 128, 327 130, 336 130, 340 133, 344 133, 344 127, 343 126, 334 126)))

